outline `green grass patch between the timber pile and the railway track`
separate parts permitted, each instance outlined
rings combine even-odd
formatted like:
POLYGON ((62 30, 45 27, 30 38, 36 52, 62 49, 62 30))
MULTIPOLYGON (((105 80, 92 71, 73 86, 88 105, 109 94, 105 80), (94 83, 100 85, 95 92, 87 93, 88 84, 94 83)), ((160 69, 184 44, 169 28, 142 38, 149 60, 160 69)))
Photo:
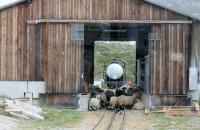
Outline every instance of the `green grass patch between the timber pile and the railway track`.
POLYGON ((24 120, 20 124, 23 128, 20 130, 49 130, 56 127, 65 127, 67 125, 78 123, 83 118, 83 113, 72 109, 44 108, 44 120, 24 120))

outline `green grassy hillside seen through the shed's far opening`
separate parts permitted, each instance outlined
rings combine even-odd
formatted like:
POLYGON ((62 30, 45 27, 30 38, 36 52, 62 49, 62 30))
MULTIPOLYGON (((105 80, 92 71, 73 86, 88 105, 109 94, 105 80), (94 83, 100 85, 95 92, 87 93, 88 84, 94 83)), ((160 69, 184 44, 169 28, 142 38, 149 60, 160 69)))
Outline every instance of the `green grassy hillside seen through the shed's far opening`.
POLYGON ((135 81, 136 44, 135 42, 95 42, 94 78, 103 78, 105 61, 120 59, 126 61, 127 79, 135 81))

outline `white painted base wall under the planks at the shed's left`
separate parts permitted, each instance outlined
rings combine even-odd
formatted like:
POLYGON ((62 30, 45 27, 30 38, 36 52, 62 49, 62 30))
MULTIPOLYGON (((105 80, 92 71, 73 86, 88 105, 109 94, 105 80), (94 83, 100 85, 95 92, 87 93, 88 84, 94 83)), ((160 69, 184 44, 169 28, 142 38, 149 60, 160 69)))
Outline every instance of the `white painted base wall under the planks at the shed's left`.
POLYGON ((45 93, 45 83, 37 81, 0 81, 0 96, 10 98, 24 98, 27 92, 33 93, 33 98, 38 98, 40 93, 45 93))

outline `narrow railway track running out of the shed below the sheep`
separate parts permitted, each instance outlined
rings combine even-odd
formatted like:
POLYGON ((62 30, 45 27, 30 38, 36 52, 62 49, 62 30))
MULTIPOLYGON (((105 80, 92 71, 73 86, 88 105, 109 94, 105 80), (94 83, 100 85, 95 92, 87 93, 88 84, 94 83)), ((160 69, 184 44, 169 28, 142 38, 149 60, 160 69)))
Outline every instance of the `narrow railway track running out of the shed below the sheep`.
MULTIPOLYGON (((91 130, 99 130, 99 129, 104 129, 104 130, 111 130, 112 127, 113 127, 113 124, 116 120, 116 115, 118 113, 116 113, 115 111, 112 112, 112 116, 111 118, 108 117, 109 116, 109 113, 104 110, 102 116, 100 117, 100 119, 98 120, 98 122, 96 123, 96 125, 91 129, 91 130), (106 118, 110 118, 109 121, 105 121, 103 122, 103 120, 106 120, 106 118), (103 128, 102 128, 103 127, 103 128)), ((123 113, 122 113, 122 118, 121 118, 121 124, 118 128, 118 130, 125 130, 125 121, 126 121, 126 110, 123 110, 123 113)), ((117 130, 117 128, 115 128, 115 130, 117 130)))

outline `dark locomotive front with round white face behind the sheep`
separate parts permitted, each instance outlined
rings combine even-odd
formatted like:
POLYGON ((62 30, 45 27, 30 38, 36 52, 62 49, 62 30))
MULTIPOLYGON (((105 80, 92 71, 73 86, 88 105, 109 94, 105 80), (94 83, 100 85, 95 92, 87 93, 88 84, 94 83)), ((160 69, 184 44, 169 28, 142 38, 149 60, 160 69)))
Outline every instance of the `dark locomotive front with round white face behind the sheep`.
POLYGON ((121 87, 126 83, 126 62, 118 59, 105 62, 103 77, 105 84, 109 88, 121 87))

